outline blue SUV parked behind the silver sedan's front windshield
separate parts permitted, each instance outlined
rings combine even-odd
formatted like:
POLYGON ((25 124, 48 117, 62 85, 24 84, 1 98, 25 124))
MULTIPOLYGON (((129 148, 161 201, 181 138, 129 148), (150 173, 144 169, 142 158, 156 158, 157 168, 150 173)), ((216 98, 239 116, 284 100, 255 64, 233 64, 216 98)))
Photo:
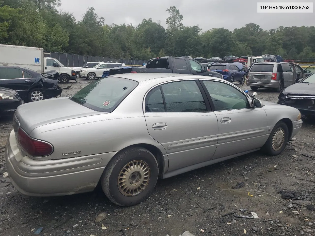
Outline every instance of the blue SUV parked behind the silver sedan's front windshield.
POLYGON ((243 64, 240 62, 215 63, 211 65, 210 70, 220 73, 224 80, 230 81, 231 83, 234 81, 241 81, 241 83, 244 83, 245 71, 243 68, 243 64))

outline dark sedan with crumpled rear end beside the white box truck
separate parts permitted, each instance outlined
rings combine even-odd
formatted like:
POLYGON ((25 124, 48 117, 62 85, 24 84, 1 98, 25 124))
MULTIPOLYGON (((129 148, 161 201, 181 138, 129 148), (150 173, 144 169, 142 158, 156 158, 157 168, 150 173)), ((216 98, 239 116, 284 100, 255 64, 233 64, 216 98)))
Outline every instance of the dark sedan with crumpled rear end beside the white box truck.
POLYGON ((43 75, 24 67, 0 66, 0 86, 17 91, 25 102, 57 97, 62 92, 54 79, 57 72, 49 72, 43 75))

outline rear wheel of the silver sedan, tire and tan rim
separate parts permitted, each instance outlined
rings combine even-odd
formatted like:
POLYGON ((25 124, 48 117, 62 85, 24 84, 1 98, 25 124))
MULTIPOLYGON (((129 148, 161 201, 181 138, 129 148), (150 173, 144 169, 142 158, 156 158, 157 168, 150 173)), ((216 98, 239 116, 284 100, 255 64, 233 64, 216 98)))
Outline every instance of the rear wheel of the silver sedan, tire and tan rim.
POLYGON ((108 199, 120 206, 136 205, 152 193, 158 177, 154 155, 141 147, 121 151, 112 158, 101 177, 108 199))

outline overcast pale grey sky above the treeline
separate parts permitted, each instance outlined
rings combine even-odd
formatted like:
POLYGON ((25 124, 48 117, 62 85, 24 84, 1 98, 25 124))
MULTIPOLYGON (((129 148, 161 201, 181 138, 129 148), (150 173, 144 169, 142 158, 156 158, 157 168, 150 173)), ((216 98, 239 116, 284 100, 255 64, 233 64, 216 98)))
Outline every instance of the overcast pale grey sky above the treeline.
MULTIPOLYGON (((269 2, 300 2, 302 0, 269 0, 269 2)), ((227 28, 231 31, 253 22, 263 30, 282 26, 312 26, 315 13, 257 13, 257 2, 263 0, 61 0, 60 10, 73 12, 81 20, 86 9, 94 7, 106 24, 133 24, 137 26, 143 18, 152 18, 166 27, 166 11, 172 5, 180 10, 185 26, 199 25, 202 31, 212 28, 227 28)), ((303 2, 313 2, 304 0, 303 2)))

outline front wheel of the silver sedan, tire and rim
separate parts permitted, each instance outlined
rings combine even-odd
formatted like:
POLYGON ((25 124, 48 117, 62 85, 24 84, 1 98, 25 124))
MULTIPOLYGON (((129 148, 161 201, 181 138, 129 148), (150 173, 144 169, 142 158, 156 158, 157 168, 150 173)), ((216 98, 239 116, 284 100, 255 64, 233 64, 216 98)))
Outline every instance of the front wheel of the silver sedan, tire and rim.
POLYGON ((266 143, 262 147, 262 150, 271 156, 279 155, 285 149, 289 140, 289 129, 288 126, 283 122, 279 121, 272 129, 266 143))

